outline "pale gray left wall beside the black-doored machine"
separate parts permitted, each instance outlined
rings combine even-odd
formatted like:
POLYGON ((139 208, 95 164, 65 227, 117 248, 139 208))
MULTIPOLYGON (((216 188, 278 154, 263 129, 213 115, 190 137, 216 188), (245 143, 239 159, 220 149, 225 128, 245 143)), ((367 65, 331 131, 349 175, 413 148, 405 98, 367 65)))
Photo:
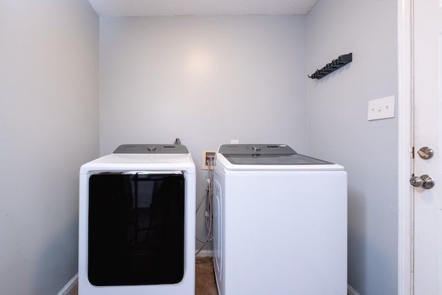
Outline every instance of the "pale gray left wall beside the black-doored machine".
POLYGON ((0 294, 77 273, 78 173, 99 153, 99 20, 78 0, 0 1, 0 294))

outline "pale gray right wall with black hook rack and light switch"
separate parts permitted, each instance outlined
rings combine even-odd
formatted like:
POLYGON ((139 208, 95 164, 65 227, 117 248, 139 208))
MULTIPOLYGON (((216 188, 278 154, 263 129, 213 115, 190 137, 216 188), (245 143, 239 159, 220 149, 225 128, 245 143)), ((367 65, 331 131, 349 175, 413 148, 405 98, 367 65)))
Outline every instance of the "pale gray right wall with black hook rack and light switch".
POLYGON ((354 61, 307 80, 310 155, 348 172, 348 283, 397 294, 397 119, 367 121, 371 99, 397 96, 394 0, 320 0, 307 16, 307 71, 338 55, 354 61))

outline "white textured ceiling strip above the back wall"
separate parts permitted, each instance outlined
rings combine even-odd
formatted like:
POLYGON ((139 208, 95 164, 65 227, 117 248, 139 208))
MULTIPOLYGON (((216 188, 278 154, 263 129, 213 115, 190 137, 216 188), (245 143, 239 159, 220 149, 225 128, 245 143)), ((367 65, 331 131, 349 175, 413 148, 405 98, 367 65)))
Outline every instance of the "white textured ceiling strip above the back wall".
POLYGON ((305 15, 318 0, 88 0, 100 17, 305 15))

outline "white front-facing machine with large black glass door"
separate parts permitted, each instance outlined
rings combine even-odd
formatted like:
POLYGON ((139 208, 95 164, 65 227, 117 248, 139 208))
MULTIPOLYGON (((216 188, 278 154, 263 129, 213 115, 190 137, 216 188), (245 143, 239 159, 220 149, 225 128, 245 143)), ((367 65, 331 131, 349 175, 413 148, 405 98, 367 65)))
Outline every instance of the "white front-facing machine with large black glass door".
POLYGON ((195 294, 195 164, 126 144, 81 166, 79 294, 195 294))

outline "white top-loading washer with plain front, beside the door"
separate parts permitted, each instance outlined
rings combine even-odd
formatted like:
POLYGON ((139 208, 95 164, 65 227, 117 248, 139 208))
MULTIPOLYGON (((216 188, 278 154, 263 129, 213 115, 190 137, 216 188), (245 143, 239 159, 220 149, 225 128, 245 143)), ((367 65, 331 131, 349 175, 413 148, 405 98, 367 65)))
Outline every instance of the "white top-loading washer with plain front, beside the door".
POLYGON ((214 173, 218 294, 347 294, 343 166, 285 144, 226 144, 214 173))

